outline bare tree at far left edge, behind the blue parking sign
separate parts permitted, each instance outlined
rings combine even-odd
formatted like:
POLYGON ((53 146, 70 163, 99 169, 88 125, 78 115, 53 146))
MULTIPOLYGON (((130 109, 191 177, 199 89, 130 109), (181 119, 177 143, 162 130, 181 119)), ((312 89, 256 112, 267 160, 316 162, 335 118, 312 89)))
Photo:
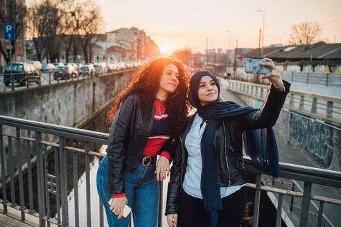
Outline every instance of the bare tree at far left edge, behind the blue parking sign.
MULTIPOLYGON (((24 17, 26 16, 26 5, 17 0, 8 0, 5 4, 5 10, 0 11, 0 20, 3 24, 15 25, 15 37, 24 37, 24 17)), ((15 53, 15 40, 10 40, 13 46, 13 53, 15 53)), ((5 57, 6 62, 10 62, 10 57, 3 48, 0 42, 0 52, 5 57)))

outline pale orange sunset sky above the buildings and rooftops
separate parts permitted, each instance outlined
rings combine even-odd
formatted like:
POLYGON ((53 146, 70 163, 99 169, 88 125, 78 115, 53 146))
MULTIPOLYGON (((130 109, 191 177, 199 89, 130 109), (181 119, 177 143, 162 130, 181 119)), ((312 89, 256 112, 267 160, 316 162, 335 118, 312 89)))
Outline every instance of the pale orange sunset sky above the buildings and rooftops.
POLYGON ((318 21, 320 37, 329 42, 341 42, 340 0, 98 0, 105 19, 105 30, 143 29, 161 47, 169 51, 189 47, 203 51, 206 39, 209 48, 256 47, 259 28, 265 11, 264 45, 286 44, 291 26, 303 21, 318 21))

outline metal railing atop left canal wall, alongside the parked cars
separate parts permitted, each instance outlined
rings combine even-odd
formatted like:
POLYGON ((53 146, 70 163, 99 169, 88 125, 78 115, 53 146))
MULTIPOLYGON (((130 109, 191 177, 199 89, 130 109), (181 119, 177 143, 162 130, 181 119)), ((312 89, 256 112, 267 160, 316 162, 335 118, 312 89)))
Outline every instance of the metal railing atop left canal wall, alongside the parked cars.
POLYGON ((111 75, 117 73, 124 73, 127 71, 134 71, 135 68, 132 69, 124 69, 121 71, 111 71, 107 73, 75 73, 69 76, 59 76, 55 73, 59 73, 62 71, 40 71, 37 73, 28 73, 28 75, 24 75, 25 73, 1 73, 0 74, 0 92, 7 91, 15 91, 17 89, 21 89, 22 87, 35 88, 41 87, 46 84, 58 84, 60 82, 70 82, 74 80, 84 80, 86 78, 92 78, 94 76, 104 76, 111 75), (33 84, 32 84, 33 83, 33 84))

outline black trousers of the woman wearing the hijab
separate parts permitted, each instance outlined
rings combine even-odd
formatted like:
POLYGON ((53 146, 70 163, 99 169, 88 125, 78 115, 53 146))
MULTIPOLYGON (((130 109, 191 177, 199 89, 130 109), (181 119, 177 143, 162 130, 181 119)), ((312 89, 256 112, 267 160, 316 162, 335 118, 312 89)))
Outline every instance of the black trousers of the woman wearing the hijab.
MULTIPOLYGON (((218 226, 240 226, 245 213, 245 189, 222 198, 222 210, 218 212, 218 226)), ((209 227, 210 215, 205 212, 203 200, 192 197, 182 190, 178 206, 178 227, 209 227)))

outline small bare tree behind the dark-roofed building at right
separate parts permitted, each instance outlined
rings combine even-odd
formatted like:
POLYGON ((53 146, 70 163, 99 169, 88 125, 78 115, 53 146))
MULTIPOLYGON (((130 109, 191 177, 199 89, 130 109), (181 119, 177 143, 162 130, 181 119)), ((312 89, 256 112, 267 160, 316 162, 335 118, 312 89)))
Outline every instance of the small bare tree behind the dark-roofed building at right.
POLYGON ((318 22, 305 21, 291 27, 290 45, 313 44, 318 41, 321 26, 318 22))

